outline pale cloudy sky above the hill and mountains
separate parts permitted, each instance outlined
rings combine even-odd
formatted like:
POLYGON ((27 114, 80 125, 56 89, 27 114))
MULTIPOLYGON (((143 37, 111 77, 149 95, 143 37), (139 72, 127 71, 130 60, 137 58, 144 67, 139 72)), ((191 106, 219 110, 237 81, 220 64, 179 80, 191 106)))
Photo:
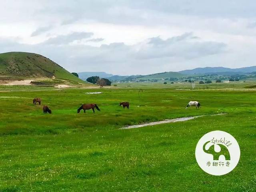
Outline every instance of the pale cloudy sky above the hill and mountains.
POLYGON ((256 65, 255 0, 1 0, 0 52, 70 72, 256 65))

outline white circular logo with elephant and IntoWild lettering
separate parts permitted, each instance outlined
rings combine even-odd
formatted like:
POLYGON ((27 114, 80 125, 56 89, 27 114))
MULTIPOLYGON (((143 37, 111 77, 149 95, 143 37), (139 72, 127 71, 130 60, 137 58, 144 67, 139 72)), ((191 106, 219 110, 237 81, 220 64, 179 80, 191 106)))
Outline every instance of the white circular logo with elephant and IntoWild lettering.
POLYGON ((224 175, 238 164, 240 148, 236 139, 224 131, 206 133, 196 145, 196 161, 211 175, 224 175))

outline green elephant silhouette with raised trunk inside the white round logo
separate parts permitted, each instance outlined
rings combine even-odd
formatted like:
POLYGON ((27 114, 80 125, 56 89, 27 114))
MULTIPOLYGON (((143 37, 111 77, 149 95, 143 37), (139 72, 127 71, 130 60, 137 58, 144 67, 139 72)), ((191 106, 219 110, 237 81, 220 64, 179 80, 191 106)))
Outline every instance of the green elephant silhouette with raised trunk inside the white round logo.
POLYGON ((208 154, 211 154, 213 156, 213 160, 219 160, 220 156, 221 155, 224 155, 225 156, 225 160, 230 160, 230 153, 228 151, 228 148, 222 144, 216 144, 220 147, 220 151, 219 152, 216 152, 214 150, 214 145, 215 144, 212 144, 208 150, 206 150, 206 145, 210 143, 210 141, 206 142, 203 146, 203 150, 205 153, 208 153, 208 154))

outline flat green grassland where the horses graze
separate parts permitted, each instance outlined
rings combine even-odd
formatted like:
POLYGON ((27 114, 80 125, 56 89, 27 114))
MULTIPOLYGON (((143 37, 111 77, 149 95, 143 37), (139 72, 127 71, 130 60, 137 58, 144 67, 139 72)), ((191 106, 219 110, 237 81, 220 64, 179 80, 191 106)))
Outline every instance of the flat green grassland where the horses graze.
POLYGON ((256 191, 256 92, 176 88, 181 87, 24 91, 16 86, 0 92, 0 191, 256 191), (103 93, 86 94, 98 91, 103 93), (41 97, 52 114, 34 106, 34 97, 41 97), (190 100, 202 107, 185 109, 190 100), (120 107, 121 101, 130 102, 130 109, 120 107), (82 103, 96 103, 100 111, 77 114, 82 103), (227 114, 119 130, 218 113, 227 114), (194 155, 198 140, 213 130, 232 134, 241 149, 238 166, 224 176, 205 173, 194 155))

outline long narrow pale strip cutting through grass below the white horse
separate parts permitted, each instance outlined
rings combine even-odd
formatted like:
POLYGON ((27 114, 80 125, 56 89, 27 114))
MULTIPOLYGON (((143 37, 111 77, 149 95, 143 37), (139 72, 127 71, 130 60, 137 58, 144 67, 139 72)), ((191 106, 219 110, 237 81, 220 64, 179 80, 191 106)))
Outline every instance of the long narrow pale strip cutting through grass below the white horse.
POLYGON ((174 122, 188 121, 188 120, 192 120, 192 119, 195 119, 195 118, 198 118, 198 117, 216 116, 216 115, 226 115, 226 113, 219 113, 219 114, 213 114, 213 115, 198 115, 198 116, 181 117, 181 118, 175 118, 175 119, 166 119, 166 120, 163 120, 163 121, 156 121, 156 122, 144 123, 144 124, 139 124, 139 125, 130 125, 130 126, 122 127, 120 129, 133 129, 133 128, 153 126, 153 125, 159 125, 159 124, 165 124, 165 123, 174 123, 174 122))

